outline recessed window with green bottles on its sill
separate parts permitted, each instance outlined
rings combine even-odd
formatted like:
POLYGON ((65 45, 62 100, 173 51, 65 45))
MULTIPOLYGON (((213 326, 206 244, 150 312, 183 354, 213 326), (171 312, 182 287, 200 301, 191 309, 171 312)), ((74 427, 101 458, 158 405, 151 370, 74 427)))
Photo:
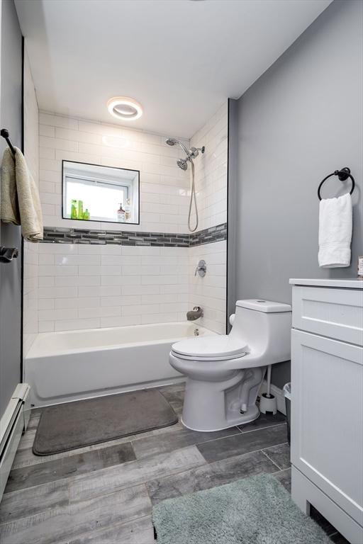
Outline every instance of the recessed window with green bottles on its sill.
POLYGON ((64 219, 139 224, 140 172, 63 161, 64 219))

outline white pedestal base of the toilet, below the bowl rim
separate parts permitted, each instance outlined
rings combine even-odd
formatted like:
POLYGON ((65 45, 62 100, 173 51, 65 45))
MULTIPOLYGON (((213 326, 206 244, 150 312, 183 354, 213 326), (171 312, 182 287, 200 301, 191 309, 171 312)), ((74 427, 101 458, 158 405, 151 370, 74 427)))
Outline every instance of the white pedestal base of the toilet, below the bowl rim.
POLYGON ((236 370, 220 382, 187 378, 181 422, 199 432, 222 431, 259 416, 257 392, 266 367, 236 370))

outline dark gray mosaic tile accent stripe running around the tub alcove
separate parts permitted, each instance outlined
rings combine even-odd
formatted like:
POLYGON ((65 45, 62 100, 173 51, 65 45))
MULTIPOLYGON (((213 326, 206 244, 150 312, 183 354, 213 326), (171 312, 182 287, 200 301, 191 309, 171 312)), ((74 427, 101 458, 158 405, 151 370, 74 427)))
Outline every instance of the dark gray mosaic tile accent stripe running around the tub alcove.
POLYGON ((44 227, 43 242, 50 244, 117 244, 120 246, 194 247, 227 239, 227 223, 192 234, 128 232, 44 227))

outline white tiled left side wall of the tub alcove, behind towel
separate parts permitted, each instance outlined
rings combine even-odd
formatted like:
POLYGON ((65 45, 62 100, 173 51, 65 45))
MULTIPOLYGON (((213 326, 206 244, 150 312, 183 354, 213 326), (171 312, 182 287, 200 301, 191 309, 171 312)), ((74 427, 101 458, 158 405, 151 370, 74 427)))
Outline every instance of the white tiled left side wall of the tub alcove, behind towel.
MULTIPOLYGON (((28 53, 24 55, 24 155, 31 174, 39 184, 38 103, 28 53)), ((23 353, 26 355, 38 334, 38 249, 39 244, 24 243, 23 257, 23 353)))

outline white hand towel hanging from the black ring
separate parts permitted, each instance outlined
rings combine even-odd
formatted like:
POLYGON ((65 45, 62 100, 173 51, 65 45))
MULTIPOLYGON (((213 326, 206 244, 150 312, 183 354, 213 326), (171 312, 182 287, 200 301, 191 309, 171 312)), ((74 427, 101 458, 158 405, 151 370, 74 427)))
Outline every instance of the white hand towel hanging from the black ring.
POLYGON ((319 266, 350 266, 352 242, 352 198, 323 198, 319 208, 319 266))

